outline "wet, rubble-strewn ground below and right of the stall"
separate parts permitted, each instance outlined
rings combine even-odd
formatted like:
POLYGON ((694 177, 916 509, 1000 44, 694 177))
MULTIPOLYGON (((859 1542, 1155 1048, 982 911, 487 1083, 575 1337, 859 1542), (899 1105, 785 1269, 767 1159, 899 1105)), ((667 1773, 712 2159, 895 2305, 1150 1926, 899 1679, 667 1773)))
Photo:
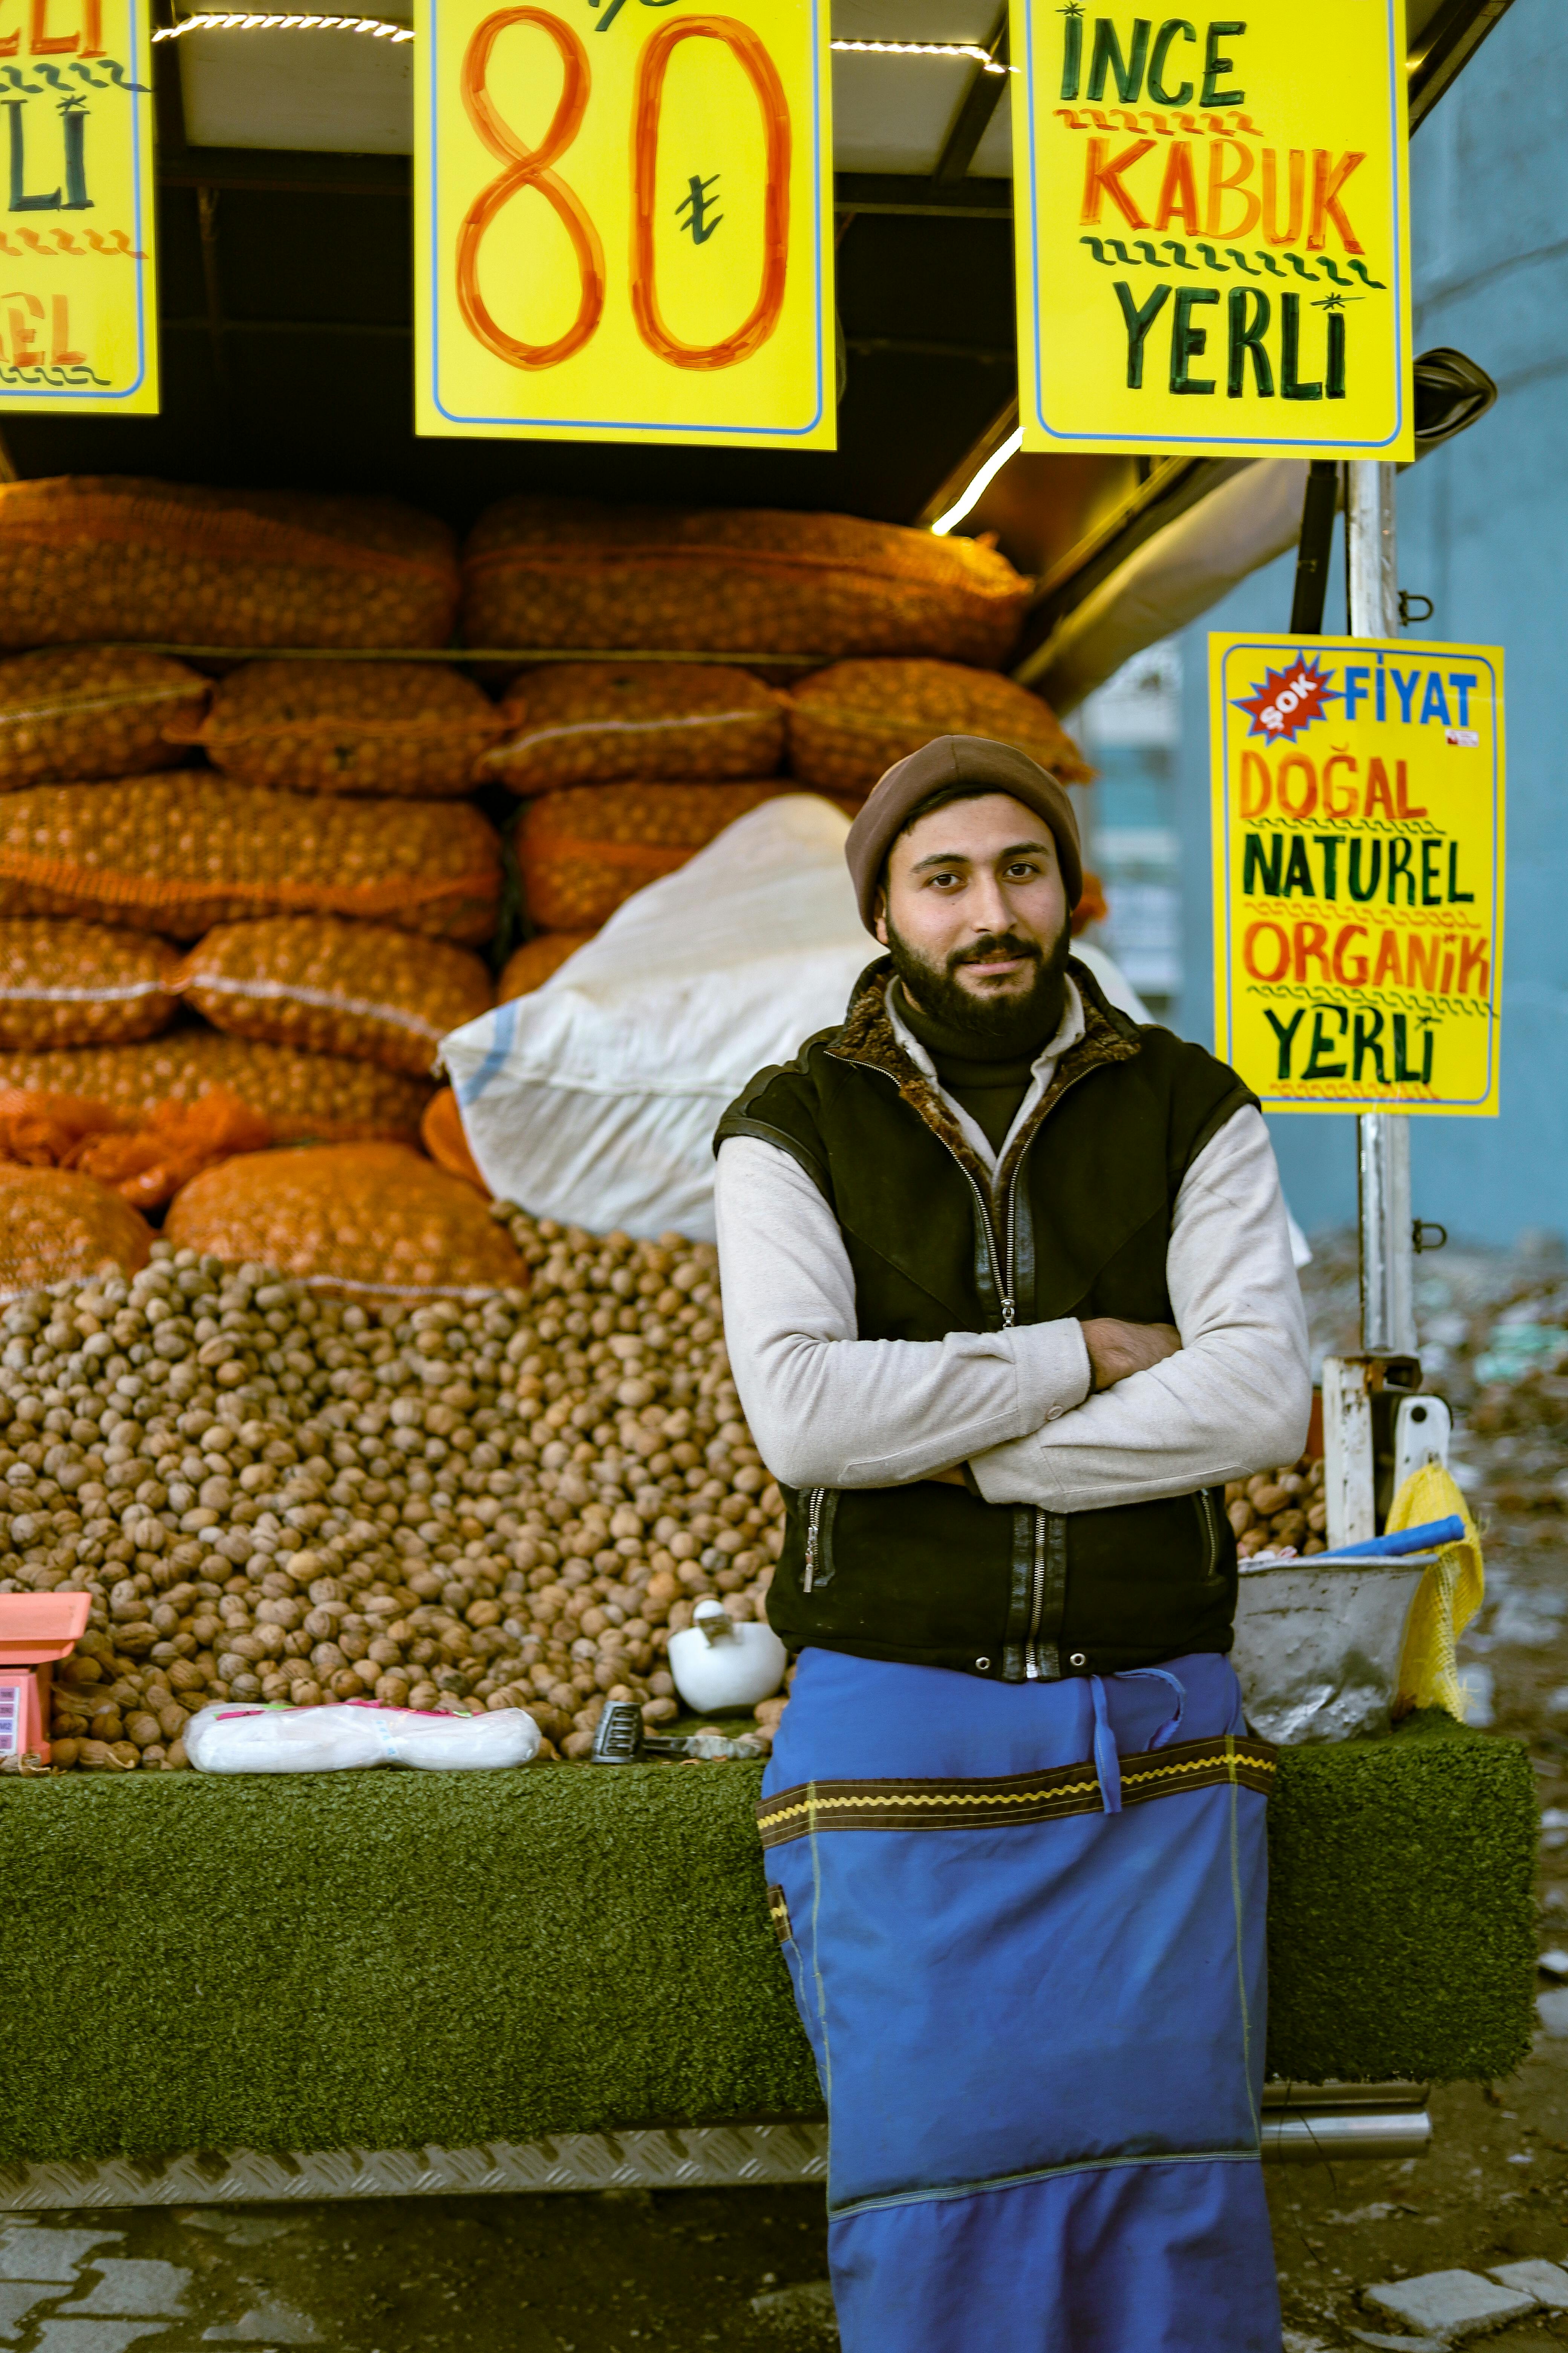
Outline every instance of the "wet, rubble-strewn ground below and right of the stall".
MULTIPOLYGON (((1319 1249, 1307 1292, 1319 1355, 1354 1348, 1342 1245, 1319 1249)), ((1544 1809, 1540 1951, 1563 1948, 1568 1984, 1568 1264, 1450 1252, 1422 1259, 1418 1301, 1429 1386, 1455 1402, 1458 1473, 1488 1539, 1488 1602, 1462 1661, 1488 1729, 1530 1746, 1544 1809)), ((1556 1984, 1544 1969, 1540 1991, 1556 1984)), ((1269 2167, 1286 2353, 1394 2341, 1359 2301, 1375 2282, 1523 2257, 1568 2264, 1563 2026, 1563 2038, 1542 2028, 1509 2082, 1434 2092, 1427 2158, 1269 2167)), ((832 2344, 825 2273, 816 2188, 9 2217, 0 2346, 776 2353, 832 2344)), ((1568 2313, 1486 2341, 1544 2353, 1568 2344, 1568 2313)))

